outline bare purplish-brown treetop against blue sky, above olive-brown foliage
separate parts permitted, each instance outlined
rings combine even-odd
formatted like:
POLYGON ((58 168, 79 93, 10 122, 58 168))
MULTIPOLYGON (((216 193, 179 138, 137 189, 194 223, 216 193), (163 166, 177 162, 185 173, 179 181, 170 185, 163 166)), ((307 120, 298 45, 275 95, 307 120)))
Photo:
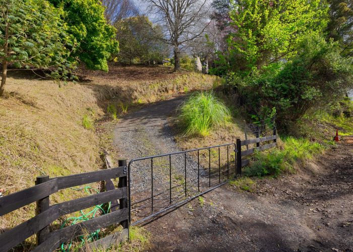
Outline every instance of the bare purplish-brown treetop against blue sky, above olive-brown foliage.
POLYGON ((104 16, 111 25, 122 19, 138 16, 139 11, 131 0, 101 0, 105 7, 104 16))

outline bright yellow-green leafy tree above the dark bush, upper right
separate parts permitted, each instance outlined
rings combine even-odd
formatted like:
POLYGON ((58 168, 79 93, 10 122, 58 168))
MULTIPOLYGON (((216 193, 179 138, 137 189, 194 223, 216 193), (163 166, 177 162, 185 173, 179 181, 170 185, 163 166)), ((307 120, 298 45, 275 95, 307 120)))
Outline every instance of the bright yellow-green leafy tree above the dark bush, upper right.
POLYGON ((320 0, 232 0, 228 39, 234 70, 252 71, 270 62, 295 55, 297 42, 311 31, 322 31, 327 24, 327 6, 320 0))

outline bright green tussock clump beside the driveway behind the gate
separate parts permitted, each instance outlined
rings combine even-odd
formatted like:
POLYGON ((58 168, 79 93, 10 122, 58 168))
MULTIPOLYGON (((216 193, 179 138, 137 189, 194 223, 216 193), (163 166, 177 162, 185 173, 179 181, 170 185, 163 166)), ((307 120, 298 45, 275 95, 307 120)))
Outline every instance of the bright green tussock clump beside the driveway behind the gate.
POLYGON ((229 109, 213 92, 192 95, 180 108, 178 117, 185 136, 208 136, 210 129, 230 120, 229 109))

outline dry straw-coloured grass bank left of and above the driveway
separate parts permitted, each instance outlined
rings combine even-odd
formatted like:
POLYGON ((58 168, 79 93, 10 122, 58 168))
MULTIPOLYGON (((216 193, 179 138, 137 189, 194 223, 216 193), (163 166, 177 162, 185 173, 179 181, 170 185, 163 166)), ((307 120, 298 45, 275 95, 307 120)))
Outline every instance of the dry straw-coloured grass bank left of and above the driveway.
MULTIPOLYGON (((216 80, 169 72, 165 68, 113 67, 109 73, 82 71, 86 81, 67 85, 12 73, 5 96, 0 98, 0 188, 5 195, 33 186, 41 174, 54 177, 100 169, 102 148, 111 148, 113 122, 101 120, 108 103, 128 104, 129 112, 143 103, 184 92, 184 87, 209 88, 216 80), (83 127, 84 115, 93 119, 93 130, 83 127)), ((50 197, 51 204, 80 196, 72 191, 50 197)), ((2 216, 0 230, 33 217, 34 209, 31 204, 2 216)))

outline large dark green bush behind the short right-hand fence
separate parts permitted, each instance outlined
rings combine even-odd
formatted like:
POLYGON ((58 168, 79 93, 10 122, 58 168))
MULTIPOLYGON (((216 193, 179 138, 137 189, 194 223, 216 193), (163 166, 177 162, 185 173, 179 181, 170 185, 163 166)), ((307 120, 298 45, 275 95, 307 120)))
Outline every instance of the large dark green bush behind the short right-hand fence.
POLYGON ((352 65, 340 55, 337 42, 325 41, 318 33, 298 41, 292 60, 262 68, 251 77, 229 76, 250 113, 265 117, 273 107, 281 124, 290 124, 309 108, 342 97, 352 87, 352 65))

